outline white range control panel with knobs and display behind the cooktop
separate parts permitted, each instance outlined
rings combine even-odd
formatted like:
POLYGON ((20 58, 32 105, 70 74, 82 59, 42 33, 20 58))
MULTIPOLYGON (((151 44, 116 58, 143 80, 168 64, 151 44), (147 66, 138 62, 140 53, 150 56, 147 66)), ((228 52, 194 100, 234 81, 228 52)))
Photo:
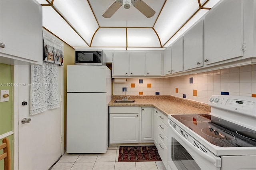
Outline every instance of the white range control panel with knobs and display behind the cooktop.
POLYGON ((208 105, 246 115, 256 114, 256 98, 248 96, 212 95, 208 105))

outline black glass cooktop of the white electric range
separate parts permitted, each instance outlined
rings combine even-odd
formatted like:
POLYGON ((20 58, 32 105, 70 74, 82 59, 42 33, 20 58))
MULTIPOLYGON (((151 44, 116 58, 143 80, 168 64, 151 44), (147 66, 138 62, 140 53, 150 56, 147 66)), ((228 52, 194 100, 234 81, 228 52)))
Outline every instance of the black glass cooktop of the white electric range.
POLYGON ((256 131, 208 114, 171 115, 208 142, 221 147, 255 147, 256 131))

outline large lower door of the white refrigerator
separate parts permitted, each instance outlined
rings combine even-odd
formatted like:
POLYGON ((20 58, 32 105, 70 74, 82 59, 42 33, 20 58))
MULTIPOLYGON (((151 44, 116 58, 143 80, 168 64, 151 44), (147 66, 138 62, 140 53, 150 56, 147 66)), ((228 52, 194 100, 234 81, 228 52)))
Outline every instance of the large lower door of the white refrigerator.
POLYGON ((106 93, 67 93, 67 153, 105 153, 106 93))

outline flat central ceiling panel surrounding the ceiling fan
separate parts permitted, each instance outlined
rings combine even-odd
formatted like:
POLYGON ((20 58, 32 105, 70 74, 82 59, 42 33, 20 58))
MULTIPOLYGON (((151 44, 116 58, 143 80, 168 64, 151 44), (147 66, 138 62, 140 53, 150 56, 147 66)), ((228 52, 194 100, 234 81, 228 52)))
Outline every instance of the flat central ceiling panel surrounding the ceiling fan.
MULTIPOLYGON (((121 6, 111 18, 104 18, 102 14, 113 4, 115 0, 89 0, 92 10, 100 27, 153 27, 165 0, 143 0, 156 13, 147 18, 132 4, 129 9, 121 6)), ((125 4, 126 0, 124 0, 125 4)), ((129 1, 128 1, 129 2, 129 1)))

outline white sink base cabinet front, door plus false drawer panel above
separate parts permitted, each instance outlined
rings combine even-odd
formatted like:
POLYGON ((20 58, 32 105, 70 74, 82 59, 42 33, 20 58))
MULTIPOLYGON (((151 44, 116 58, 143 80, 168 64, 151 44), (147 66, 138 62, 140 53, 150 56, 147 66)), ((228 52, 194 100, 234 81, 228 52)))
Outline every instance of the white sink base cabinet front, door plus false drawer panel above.
POLYGON ((139 107, 110 107, 109 113, 109 143, 139 143, 139 107))

